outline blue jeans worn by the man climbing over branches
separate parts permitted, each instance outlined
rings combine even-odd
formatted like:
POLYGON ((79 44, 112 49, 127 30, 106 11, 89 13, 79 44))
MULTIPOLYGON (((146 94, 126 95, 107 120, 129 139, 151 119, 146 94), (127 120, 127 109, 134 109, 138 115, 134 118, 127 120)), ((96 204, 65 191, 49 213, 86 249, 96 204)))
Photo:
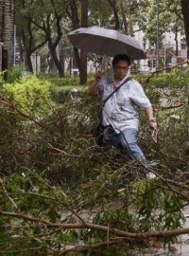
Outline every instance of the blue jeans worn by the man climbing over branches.
POLYGON ((127 128, 120 134, 116 134, 112 127, 105 129, 103 142, 105 146, 114 146, 127 152, 131 159, 141 160, 146 163, 146 157, 137 144, 138 131, 127 128))

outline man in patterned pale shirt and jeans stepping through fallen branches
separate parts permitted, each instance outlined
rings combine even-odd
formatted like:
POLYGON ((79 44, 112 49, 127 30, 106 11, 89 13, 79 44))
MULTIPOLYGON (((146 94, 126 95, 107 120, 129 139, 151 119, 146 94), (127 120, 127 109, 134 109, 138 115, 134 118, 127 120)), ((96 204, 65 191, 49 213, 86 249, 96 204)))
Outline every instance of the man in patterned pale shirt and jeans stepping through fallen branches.
MULTIPOLYGON (((95 73, 94 82, 89 87, 89 95, 99 93, 104 101, 128 76, 129 56, 118 54, 112 60, 113 76, 102 77, 101 71, 95 73)), ((146 167, 146 157, 137 144, 139 116, 137 109, 146 112, 149 128, 157 131, 157 122, 153 117, 153 109, 147 99, 143 87, 134 79, 125 82, 119 90, 106 101, 103 113, 104 144, 127 151, 131 159, 137 159, 146 167)))

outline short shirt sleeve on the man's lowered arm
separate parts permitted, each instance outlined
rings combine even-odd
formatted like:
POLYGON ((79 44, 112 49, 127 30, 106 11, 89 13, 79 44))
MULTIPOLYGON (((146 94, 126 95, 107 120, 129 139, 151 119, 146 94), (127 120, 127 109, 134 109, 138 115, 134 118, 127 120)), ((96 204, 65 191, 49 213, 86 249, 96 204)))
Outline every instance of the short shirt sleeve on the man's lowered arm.
POLYGON ((145 109, 148 106, 151 106, 151 102, 146 97, 146 94, 144 92, 144 89, 142 85, 139 82, 134 82, 132 84, 132 90, 130 90, 130 96, 129 98, 134 101, 134 103, 140 107, 145 109))

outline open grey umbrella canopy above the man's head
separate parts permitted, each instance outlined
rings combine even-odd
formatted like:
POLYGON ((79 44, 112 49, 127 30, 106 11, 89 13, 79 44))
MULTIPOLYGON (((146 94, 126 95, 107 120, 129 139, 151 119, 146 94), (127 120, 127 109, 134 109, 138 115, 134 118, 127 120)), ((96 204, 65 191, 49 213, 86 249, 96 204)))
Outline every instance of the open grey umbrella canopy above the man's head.
POLYGON ((123 53, 129 55, 131 60, 146 59, 139 42, 117 30, 96 26, 80 27, 70 32, 68 37, 73 46, 99 55, 113 57, 123 53))

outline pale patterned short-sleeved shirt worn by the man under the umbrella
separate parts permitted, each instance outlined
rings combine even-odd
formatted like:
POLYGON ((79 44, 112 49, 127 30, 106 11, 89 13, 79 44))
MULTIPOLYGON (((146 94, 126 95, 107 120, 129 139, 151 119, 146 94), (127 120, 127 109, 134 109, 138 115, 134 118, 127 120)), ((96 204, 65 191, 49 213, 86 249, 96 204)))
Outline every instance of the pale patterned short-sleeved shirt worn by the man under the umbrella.
MULTIPOLYGON (((121 84, 124 78, 119 84, 121 84)), ((113 77, 102 77, 98 84, 99 94, 104 101, 113 91, 113 77)), ((119 85, 118 84, 118 85, 119 85)), ((139 116, 138 107, 146 108, 151 103, 147 99, 142 85, 134 79, 126 82, 121 88, 113 93, 112 97, 103 107, 103 125, 112 124, 114 131, 118 134, 126 128, 138 130, 139 116)))

